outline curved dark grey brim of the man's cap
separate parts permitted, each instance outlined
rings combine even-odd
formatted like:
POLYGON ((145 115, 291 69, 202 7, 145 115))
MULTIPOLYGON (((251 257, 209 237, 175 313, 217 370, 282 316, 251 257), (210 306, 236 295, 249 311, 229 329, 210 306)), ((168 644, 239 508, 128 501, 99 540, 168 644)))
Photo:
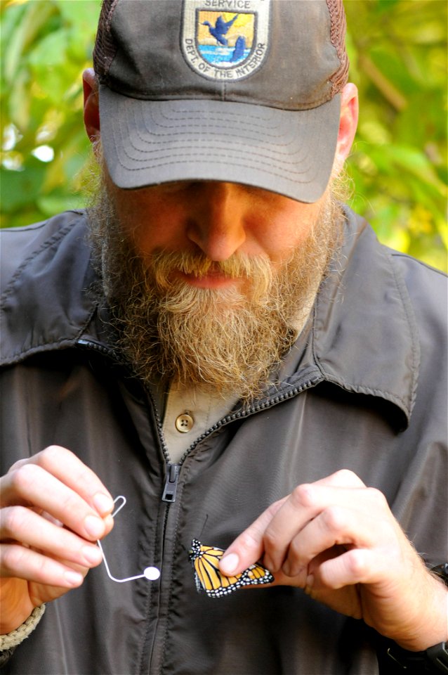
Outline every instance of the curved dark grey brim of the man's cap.
POLYGON ((210 99, 142 101, 100 86, 103 153, 114 184, 209 180, 312 203, 329 182, 340 96, 300 112, 210 99))

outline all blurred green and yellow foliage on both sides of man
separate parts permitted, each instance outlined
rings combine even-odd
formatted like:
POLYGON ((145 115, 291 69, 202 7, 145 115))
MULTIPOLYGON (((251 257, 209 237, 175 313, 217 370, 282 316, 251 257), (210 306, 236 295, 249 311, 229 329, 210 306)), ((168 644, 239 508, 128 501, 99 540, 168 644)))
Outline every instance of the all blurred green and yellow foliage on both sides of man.
MULTIPOLYGON (((447 2, 345 0, 360 127, 351 203, 393 248, 447 269, 447 2)), ((3 227, 83 204, 81 72, 100 0, 1 0, 3 227)))

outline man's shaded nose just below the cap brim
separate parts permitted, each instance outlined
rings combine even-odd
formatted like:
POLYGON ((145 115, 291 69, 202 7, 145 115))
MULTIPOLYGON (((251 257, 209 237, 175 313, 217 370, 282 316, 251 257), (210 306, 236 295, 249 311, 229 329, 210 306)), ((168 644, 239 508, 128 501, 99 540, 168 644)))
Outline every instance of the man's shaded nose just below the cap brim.
POLYGON ((237 184, 204 182, 187 223, 187 237, 210 260, 227 260, 246 240, 247 195, 237 184))

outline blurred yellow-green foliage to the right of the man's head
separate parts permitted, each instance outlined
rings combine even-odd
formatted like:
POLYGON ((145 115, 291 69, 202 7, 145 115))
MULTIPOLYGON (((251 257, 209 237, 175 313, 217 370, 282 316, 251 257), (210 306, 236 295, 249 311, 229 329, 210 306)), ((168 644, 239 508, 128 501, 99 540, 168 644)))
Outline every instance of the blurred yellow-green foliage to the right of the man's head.
POLYGON ((447 270, 447 3, 345 0, 360 125, 351 204, 384 243, 447 270))

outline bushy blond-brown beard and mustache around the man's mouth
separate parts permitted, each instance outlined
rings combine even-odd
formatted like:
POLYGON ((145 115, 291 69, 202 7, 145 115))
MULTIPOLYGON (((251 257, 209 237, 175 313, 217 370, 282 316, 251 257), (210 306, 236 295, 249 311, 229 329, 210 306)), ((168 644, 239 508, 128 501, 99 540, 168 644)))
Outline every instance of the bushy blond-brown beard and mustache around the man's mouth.
POLYGON ((279 268, 265 257, 235 255, 224 262, 226 274, 235 271, 246 279, 241 293, 169 282, 173 268, 204 271, 209 261, 164 251, 140 257, 104 184, 88 215, 117 347, 135 375, 146 384, 201 387, 245 401, 272 383, 308 319, 343 221, 341 207, 329 195, 308 238, 279 268))

